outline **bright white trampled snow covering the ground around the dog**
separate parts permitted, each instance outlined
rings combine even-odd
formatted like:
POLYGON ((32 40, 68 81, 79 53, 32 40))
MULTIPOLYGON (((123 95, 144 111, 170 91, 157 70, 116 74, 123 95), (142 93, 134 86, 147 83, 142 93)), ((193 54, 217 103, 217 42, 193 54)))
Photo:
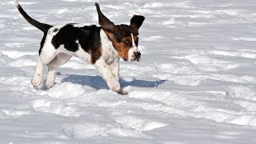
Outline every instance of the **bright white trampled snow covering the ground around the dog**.
MULTIPOLYGON (((94 0, 20 0, 40 22, 97 24, 94 0)), ((141 62, 115 94, 72 58, 50 90, 30 84, 42 32, 0 2, 0 143, 255 143, 255 0, 102 0, 116 24, 146 17, 141 62)))

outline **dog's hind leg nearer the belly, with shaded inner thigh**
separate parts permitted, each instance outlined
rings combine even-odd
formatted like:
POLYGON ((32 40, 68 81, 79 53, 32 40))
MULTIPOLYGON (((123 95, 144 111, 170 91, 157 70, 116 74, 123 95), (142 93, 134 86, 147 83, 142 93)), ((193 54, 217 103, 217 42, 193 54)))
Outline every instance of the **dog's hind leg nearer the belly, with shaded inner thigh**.
POLYGON ((56 79, 56 70, 58 66, 65 64, 68 60, 70 60, 72 56, 65 53, 59 53, 56 57, 47 64, 48 66, 48 74, 46 78, 46 88, 50 88, 50 86, 54 85, 54 81, 56 79))

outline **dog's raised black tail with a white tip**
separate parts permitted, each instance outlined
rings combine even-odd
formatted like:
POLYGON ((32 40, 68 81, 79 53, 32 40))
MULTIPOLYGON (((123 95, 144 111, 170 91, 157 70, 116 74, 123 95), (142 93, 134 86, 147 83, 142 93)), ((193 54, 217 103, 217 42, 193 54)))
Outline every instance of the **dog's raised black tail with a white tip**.
POLYGON ((37 27, 39 30, 42 30, 43 32, 46 33, 47 30, 50 29, 50 25, 47 25, 45 23, 41 23, 38 22, 36 20, 34 20, 33 18, 31 18, 28 14, 26 14, 26 12, 22 9, 22 6, 20 6, 20 4, 18 3, 18 0, 14 0, 14 3, 16 5, 16 7, 18 8, 18 11, 22 14, 22 16, 26 19, 27 22, 30 22, 31 25, 37 27))

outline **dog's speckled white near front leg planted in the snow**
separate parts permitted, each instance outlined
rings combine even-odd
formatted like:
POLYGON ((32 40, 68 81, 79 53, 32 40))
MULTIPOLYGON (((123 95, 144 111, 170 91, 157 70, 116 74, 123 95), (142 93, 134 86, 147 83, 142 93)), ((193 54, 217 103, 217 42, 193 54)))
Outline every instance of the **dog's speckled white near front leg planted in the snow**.
POLYGON ((120 87, 120 83, 115 78, 111 68, 106 62, 102 59, 99 59, 95 63, 98 72, 102 74, 102 78, 106 81, 107 86, 109 86, 110 90, 117 92, 118 94, 126 95, 128 94, 126 91, 123 91, 120 87))

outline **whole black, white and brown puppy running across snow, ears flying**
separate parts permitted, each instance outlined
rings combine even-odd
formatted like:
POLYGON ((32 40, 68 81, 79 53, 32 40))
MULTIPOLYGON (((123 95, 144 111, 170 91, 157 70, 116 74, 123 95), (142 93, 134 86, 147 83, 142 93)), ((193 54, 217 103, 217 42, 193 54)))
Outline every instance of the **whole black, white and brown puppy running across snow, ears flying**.
POLYGON ((44 32, 37 68, 31 81, 34 87, 40 85, 45 66, 48 66, 46 88, 53 86, 58 66, 75 56, 93 64, 110 90, 127 94, 119 83, 119 59, 128 62, 139 61, 141 54, 138 50, 138 29, 145 19, 143 16, 134 15, 130 26, 114 25, 102 14, 98 3, 95 3, 100 26, 50 26, 30 18, 18 0, 14 0, 14 3, 27 22, 44 32))

